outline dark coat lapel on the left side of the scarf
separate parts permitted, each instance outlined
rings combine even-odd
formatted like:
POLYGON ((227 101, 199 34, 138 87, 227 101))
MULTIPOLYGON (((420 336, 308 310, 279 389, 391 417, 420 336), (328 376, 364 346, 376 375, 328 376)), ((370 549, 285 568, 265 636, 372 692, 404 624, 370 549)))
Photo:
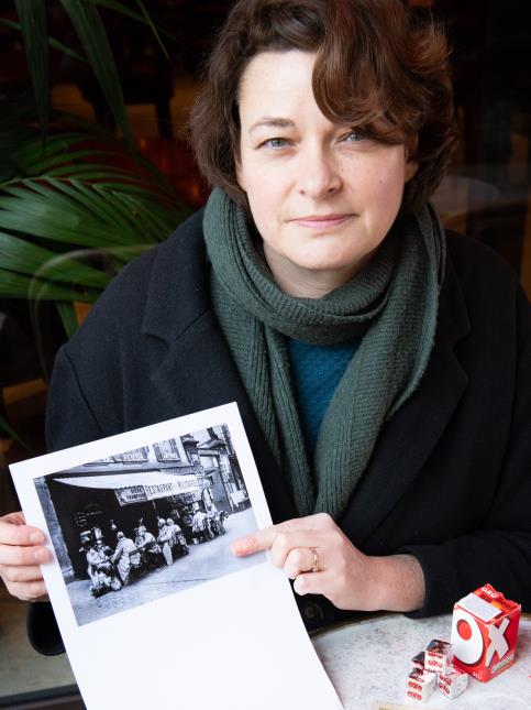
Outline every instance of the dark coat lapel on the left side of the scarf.
POLYGON ((279 522, 294 517, 295 509, 211 308, 201 218, 196 214, 164 242, 153 265, 142 326, 161 351, 151 381, 170 416, 236 402, 272 517, 279 522), (177 269, 177 260, 187 267, 177 269), (182 274, 178 283, 175 273, 182 274))

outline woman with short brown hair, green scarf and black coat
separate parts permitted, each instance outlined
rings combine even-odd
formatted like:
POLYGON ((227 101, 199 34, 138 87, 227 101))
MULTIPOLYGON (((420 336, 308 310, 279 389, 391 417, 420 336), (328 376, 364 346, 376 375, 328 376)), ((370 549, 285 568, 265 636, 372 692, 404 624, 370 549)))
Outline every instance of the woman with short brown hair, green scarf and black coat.
MULTIPOLYGON (((427 205, 454 144, 439 30, 399 0, 242 0, 191 129, 215 189, 59 352, 51 449, 236 401, 276 525, 233 549, 270 550, 309 629, 487 581, 529 605, 531 315, 427 205)), ((38 534, 0 526, 24 599, 38 534)), ((51 623, 33 604, 43 651, 51 623)))

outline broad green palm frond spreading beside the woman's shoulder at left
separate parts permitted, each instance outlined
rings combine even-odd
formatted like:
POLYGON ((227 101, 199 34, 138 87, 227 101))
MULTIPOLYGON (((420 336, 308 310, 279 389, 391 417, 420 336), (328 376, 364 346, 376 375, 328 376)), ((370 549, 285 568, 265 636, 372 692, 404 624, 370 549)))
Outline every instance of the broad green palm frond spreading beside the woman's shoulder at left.
POLYGON ((16 152, 32 175, 0 183, 0 297, 64 304, 67 334, 74 302, 93 303, 123 264, 190 211, 152 178, 147 161, 82 138, 54 135, 43 153, 32 136, 16 152), (87 162, 95 155, 102 162, 87 162))

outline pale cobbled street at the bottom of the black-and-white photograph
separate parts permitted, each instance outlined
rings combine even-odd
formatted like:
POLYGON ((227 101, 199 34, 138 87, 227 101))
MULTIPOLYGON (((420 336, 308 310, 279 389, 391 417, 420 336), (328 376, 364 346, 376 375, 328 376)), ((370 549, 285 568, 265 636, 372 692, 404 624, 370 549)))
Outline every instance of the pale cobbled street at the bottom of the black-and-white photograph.
POLYGON ((145 574, 118 592, 109 591, 95 599, 89 591, 88 579, 70 582, 67 590, 78 624, 103 619, 265 560, 264 554, 236 558, 230 550, 232 540, 255 529, 252 509, 230 515, 225 529, 224 535, 212 540, 190 545, 189 555, 178 557, 169 567, 145 574))

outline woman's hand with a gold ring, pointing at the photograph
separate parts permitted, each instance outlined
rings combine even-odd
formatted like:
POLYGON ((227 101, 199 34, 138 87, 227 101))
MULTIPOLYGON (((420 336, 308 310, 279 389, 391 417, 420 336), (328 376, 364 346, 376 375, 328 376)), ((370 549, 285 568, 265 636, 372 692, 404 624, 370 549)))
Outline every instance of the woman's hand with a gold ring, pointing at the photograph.
POLYGON ((361 553, 327 513, 294 518, 235 540, 245 557, 268 550, 298 594, 323 594, 338 609, 413 611, 424 600, 424 576, 412 555, 361 553))

